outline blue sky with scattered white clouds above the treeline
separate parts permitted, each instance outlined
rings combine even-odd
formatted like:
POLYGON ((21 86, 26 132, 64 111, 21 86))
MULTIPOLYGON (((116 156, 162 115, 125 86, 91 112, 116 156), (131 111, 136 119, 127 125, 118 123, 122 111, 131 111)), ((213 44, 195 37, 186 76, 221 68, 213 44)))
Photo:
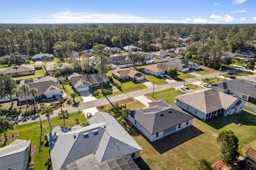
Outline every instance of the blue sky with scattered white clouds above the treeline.
POLYGON ((256 23, 256 0, 0 0, 0 23, 256 23))

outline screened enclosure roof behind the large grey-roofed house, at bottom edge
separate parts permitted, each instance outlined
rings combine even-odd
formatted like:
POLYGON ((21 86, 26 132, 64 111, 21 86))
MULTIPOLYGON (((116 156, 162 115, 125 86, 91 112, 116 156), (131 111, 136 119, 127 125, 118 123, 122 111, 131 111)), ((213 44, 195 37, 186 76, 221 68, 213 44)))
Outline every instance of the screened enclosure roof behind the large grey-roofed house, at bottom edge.
POLYGON ((92 153, 83 158, 77 159, 60 170, 140 170, 129 155, 122 155, 110 158, 98 163, 96 156, 92 153))

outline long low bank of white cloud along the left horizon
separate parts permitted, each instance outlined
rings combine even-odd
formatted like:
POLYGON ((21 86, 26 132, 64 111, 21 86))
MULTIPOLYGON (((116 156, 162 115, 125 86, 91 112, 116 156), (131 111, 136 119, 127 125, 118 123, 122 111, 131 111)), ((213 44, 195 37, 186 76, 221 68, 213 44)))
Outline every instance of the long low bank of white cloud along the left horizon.
POLYGON ((180 21, 152 19, 139 17, 134 14, 118 14, 118 13, 87 13, 72 12, 66 10, 64 12, 53 13, 49 15, 34 15, 30 18, 33 23, 175 23, 180 21))

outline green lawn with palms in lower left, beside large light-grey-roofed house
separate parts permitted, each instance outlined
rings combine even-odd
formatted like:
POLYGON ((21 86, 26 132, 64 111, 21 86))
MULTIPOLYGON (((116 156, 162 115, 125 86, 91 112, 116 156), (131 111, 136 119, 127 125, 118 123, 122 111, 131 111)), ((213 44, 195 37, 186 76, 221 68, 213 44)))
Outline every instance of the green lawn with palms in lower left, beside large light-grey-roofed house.
MULTIPOLYGON (((78 121, 79 124, 86 121, 84 114, 80 115, 78 112, 75 112, 74 114, 70 114, 69 118, 65 120, 66 126, 69 126, 69 127, 76 126, 77 125, 76 119, 79 120, 78 121)), ((42 122, 43 122, 43 131, 42 131, 41 151, 39 151, 40 134, 41 134, 39 122, 15 126, 14 129, 11 129, 7 132, 8 134, 19 132, 19 136, 16 139, 30 140, 31 143, 34 143, 36 145, 34 170, 50 169, 45 167, 44 165, 45 162, 50 158, 49 148, 46 146, 46 141, 44 140, 44 136, 50 132, 50 128, 47 123, 47 120, 42 120, 42 122)), ((59 117, 52 118, 51 123, 52 123, 52 127, 58 126, 58 125, 63 126, 63 120, 59 119, 59 117)), ((1 137, 3 137, 3 134, 1 134, 1 137)))

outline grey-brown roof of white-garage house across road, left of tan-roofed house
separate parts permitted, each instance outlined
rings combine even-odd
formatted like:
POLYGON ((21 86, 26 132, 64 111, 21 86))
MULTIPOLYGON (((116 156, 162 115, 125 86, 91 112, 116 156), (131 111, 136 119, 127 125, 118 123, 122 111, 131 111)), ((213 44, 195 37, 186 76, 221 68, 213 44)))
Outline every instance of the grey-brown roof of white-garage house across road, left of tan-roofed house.
MULTIPOLYGON (((77 75, 79 75, 79 74, 77 74, 77 75)), ((108 80, 108 76, 106 74, 103 74, 103 80, 105 80, 105 79, 108 80)), ((101 82, 101 74, 94 73, 94 74, 90 74, 90 75, 82 75, 82 76, 76 76, 76 77, 75 77, 75 75, 73 75, 73 76, 71 76, 69 81, 70 81, 70 84, 72 86, 74 86, 75 88, 77 88, 78 86, 80 86, 82 84, 91 85, 94 83, 101 82)))

